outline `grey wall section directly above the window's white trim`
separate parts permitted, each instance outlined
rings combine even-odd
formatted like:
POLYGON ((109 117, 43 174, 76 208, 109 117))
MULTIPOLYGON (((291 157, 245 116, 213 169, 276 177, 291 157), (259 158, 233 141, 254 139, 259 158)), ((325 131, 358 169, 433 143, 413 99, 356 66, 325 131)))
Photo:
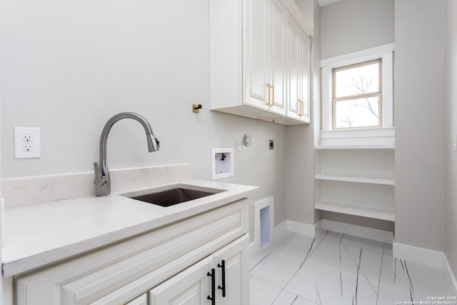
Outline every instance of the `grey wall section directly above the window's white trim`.
POLYGON ((321 58, 393 42, 394 0, 340 0, 321 9, 321 58))

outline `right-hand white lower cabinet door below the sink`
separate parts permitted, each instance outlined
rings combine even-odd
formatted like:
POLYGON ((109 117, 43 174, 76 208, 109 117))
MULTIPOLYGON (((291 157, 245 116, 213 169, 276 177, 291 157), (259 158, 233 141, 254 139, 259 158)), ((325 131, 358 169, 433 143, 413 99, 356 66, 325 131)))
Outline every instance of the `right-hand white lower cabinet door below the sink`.
POLYGON ((249 304, 248 245, 246 234, 213 254, 217 305, 249 304))

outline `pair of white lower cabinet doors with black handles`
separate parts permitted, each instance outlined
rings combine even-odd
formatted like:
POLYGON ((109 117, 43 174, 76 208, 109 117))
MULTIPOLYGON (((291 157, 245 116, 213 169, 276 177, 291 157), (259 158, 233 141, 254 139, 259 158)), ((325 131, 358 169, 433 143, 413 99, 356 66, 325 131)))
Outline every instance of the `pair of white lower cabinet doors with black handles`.
POLYGON ((248 304, 248 236, 149 291, 150 305, 248 304))

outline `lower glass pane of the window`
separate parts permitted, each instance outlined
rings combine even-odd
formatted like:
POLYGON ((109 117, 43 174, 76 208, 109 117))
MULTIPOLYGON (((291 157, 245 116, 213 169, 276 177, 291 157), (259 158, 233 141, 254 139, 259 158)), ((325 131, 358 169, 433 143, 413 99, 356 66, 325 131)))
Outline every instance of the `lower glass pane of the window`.
POLYGON ((379 125, 379 98, 337 101, 335 128, 364 127, 379 125))

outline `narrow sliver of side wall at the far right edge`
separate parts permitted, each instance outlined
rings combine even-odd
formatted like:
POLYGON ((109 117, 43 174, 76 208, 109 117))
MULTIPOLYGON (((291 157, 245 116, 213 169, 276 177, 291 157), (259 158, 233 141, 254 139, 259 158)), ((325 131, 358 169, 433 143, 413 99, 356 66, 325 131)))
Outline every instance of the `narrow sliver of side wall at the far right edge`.
POLYGON ((457 152, 451 139, 457 134, 457 2, 446 0, 446 134, 444 251, 457 274, 457 152))

